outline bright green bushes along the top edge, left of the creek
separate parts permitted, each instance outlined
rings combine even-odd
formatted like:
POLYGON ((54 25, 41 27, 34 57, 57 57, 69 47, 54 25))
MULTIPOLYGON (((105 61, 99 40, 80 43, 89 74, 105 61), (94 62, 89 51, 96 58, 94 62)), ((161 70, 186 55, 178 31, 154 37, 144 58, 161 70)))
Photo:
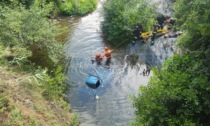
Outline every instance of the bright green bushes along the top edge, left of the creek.
MULTIPOLYGON (((0 1, 4 5, 20 5, 23 4, 28 9, 37 0, 3 0, 0 1)), ((50 16, 57 14, 65 15, 85 15, 92 12, 97 6, 97 0, 38 0, 41 7, 45 3, 53 5, 50 16)))

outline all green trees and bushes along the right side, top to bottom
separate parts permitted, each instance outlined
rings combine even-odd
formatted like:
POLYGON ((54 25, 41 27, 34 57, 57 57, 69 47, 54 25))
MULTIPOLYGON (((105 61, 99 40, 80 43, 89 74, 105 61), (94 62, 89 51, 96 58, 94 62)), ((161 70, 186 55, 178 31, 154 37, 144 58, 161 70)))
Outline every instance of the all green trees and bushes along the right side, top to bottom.
POLYGON ((182 53, 154 69, 149 84, 133 97, 133 125, 210 125, 209 5, 209 0, 176 0, 175 16, 184 31, 178 40, 182 53))

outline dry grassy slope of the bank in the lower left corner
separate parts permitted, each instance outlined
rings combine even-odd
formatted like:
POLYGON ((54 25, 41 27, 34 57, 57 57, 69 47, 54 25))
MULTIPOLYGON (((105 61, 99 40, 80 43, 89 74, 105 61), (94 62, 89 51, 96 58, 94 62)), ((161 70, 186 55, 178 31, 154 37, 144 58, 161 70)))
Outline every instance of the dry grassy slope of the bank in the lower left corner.
POLYGON ((76 125, 76 116, 61 98, 46 100, 43 89, 19 67, 0 66, 0 124, 8 125, 76 125))

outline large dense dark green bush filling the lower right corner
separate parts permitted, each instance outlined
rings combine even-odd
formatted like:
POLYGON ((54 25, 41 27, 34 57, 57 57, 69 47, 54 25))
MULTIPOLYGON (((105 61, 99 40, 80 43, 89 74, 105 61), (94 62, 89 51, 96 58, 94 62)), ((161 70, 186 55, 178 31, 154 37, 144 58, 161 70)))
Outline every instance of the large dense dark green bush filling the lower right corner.
POLYGON ((209 124, 207 77, 197 73, 202 62, 193 55, 176 55, 134 97, 137 123, 146 125, 209 124), (204 123, 205 122, 205 123, 204 123))

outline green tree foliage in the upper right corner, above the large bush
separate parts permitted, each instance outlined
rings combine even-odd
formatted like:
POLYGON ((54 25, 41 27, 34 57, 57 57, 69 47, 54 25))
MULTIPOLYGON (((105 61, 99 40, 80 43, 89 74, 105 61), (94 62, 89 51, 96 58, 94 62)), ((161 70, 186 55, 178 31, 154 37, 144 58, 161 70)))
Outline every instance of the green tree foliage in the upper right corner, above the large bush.
POLYGON ((174 5, 178 24, 186 32, 180 45, 190 50, 209 48, 210 39, 210 1, 209 0, 177 0, 174 5), (180 6, 185 5, 185 6, 180 6))

